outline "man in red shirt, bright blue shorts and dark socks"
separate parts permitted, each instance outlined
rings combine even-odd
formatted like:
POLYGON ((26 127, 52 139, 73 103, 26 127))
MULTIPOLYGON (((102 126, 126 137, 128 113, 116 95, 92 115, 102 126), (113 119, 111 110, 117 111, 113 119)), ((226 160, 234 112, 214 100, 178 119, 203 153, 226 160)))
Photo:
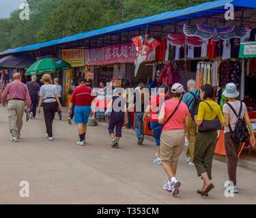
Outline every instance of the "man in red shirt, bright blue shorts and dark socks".
POLYGON ((80 78, 79 87, 74 89, 70 99, 70 107, 68 114, 72 114, 72 106, 74 104, 74 123, 79 125, 79 142, 76 144, 85 145, 85 134, 89 115, 91 114, 91 103, 94 100, 91 88, 85 85, 85 78, 80 78))

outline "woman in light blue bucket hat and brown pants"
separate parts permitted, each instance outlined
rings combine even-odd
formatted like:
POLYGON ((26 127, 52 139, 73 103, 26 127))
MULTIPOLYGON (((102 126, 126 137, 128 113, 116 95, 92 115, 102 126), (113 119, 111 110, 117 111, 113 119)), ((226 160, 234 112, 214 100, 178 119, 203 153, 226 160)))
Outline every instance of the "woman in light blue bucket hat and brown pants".
POLYGON ((228 103, 223 106, 223 113, 225 118, 224 138, 227 174, 229 176, 229 181, 232 183, 225 185, 223 190, 238 193, 236 170, 238 166, 238 153, 242 146, 242 142, 239 142, 239 140, 246 140, 247 137, 250 137, 251 146, 255 147, 255 136, 253 133, 251 121, 248 116, 246 105, 243 102, 237 100, 237 97, 240 95, 240 93, 236 89, 236 84, 227 84, 223 95, 228 99, 228 103), (241 120, 239 121, 239 119, 241 120), (241 134, 238 136, 237 140, 236 138, 232 138, 232 135, 236 136, 236 132, 234 131, 239 131, 240 125, 238 122, 241 123, 241 121, 242 125, 248 126, 249 131, 240 131, 241 134))

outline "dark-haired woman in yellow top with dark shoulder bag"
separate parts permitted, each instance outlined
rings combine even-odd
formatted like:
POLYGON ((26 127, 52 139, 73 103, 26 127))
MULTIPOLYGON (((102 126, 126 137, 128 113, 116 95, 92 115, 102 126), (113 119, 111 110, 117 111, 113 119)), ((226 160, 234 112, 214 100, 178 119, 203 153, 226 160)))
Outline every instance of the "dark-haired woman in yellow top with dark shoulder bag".
POLYGON ((214 89, 210 84, 201 87, 199 104, 195 122, 199 126, 199 132, 195 141, 194 163, 197 175, 203 179, 203 187, 197 190, 201 196, 208 196, 208 192, 214 188, 212 184, 212 159, 217 142, 217 130, 222 129, 225 120, 221 107, 214 102, 214 89))

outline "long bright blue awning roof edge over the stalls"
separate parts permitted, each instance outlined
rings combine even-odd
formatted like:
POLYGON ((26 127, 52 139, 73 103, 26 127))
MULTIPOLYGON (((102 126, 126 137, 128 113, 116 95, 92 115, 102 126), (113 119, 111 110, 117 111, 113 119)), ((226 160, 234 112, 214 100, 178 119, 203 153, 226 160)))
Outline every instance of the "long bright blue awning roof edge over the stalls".
POLYGON ((42 42, 42 43, 30 45, 30 46, 23 46, 20 48, 5 50, 4 52, 1 52, 0 55, 8 55, 16 52, 27 52, 27 51, 38 50, 40 48, 46 48, 46 47, 55 46, 59 44, 77 42, 79 40, 85 40, 85 39, 102 36, 102 35, 110 35, 115 33, 123 33, 126 31, 144 29, 147 25, 156 25, 156 24, 166 25, 172 21, 181 21, 181 20, 188 20, 193 18, 200 18, 202 16, 205 16, 206 14, 211 14, 211 15, 222 14, 226 12, 224 7, 227 3, 232 3, 236 9, 239 9, 240 7, 256 8, 256 0, 220 0, 220 1, 207 2, 197 6, 187 7, 182 10, 165 12, 165 13, 157 14, 154 16, 139 18, 136 20, 132 20, 130 22, 124 22, 118 25, 104 27, 102 29, 89 31, 86 33, 79 33, 76 35, 63 37, 59 40, 52 40, 49 42, 42 42))

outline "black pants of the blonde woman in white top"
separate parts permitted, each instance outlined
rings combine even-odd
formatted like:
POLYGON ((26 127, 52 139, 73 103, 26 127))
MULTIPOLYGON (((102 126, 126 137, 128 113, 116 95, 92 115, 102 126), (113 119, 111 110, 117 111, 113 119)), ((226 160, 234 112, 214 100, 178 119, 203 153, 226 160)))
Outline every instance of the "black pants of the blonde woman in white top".
POLYGON ((43 108, 46 133, 49 137, 53 137, 53 119, 57 108, 57 102, 44 103, 43 108))

